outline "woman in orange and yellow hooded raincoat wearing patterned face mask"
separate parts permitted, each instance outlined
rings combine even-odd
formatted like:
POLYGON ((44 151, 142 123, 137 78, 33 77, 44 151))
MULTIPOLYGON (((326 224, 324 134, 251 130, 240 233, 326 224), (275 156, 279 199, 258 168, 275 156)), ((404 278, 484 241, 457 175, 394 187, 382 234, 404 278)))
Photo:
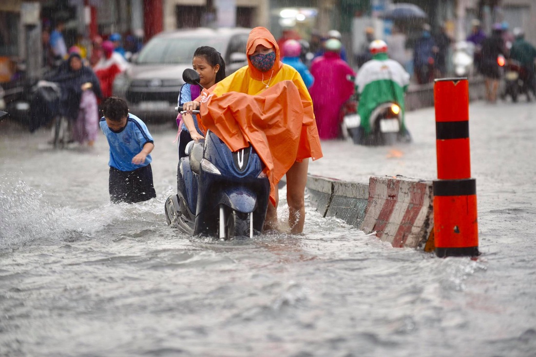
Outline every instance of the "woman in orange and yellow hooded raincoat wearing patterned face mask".
POLYGON ((322 157, 312 100, 300 74, 280 61, 276 39, 264 27, 251 30, 248 65, 215 84, 185 110, 199 108, 200 127, 236 151, 255 147, 270 179, 265 229, 277 229, 277 184, 286 174, 288 224, 301 233, 309 158, 322 157))

